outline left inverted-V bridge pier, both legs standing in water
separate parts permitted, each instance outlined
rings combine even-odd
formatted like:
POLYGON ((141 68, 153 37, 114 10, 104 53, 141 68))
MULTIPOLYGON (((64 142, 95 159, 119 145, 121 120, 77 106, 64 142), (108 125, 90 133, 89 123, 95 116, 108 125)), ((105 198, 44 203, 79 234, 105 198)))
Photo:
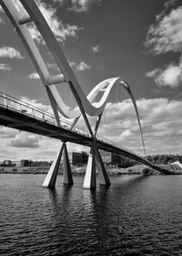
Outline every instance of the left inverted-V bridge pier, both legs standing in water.
POLYGON ((74 184, 72 173, 71 173, 71 167, 68 159, 68 154, 67 154, 66 142, 63 142, 61 149, 57 152, 56 158, 53 161, 45 177, 43 187, 50 188, 50 189, 55 188, 59 164, 60 164, 63 152, 64 152, 64 184, 68 186, 71 186, 74 184))

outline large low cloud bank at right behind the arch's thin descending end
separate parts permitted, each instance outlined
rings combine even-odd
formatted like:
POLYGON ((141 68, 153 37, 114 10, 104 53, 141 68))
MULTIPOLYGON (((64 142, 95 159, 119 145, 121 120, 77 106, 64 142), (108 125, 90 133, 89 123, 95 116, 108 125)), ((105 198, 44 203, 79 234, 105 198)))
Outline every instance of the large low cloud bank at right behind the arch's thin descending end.
MULTIPOLYGON (((136 101, 143 129, 147 154, 181 151, 182 101, 141 98, 136 101)), ((98 135, 121 147, 143 154, 142 141, 131 100, 110 103, 103 114, 98 135)))

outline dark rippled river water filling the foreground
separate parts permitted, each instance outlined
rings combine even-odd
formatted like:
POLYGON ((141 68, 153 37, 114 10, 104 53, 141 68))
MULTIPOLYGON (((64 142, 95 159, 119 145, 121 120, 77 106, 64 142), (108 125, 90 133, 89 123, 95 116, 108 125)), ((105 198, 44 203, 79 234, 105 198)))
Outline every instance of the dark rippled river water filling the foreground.
POLYGON ((182 176, 111 177, 96 191, 44 178, 0 175, 0 255, 182 255, 182 176))

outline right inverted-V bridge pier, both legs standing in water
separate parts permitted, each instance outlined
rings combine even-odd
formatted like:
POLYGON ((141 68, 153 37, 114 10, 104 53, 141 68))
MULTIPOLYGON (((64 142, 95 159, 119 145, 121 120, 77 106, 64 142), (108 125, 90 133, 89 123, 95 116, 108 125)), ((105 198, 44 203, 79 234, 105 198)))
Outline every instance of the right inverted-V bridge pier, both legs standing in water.
POLYGON ((101 158, 100 152, 96 147, 96 140, 92 142, 88 162, 86 166, 86 176, 84 179, 84 189, 96 189, 96 168, 98 169, 98 176, 100 185, 109 187, 111 185, 108 179, 105 165, 101 158))

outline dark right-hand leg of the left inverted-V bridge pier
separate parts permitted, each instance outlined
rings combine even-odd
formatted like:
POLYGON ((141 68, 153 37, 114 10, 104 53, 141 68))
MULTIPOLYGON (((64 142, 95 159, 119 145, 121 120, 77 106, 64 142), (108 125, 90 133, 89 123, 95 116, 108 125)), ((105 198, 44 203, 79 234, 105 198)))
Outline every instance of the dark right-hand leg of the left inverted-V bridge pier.
POLYGON ((67 154, 67 148, 66 148, 66 143, 63 143, 64 145, 64 184, 71 186, 74 184, 73 178, 72 178, 72 173, 71 173, 71 167, 69 163, 69 158, 67 154))

